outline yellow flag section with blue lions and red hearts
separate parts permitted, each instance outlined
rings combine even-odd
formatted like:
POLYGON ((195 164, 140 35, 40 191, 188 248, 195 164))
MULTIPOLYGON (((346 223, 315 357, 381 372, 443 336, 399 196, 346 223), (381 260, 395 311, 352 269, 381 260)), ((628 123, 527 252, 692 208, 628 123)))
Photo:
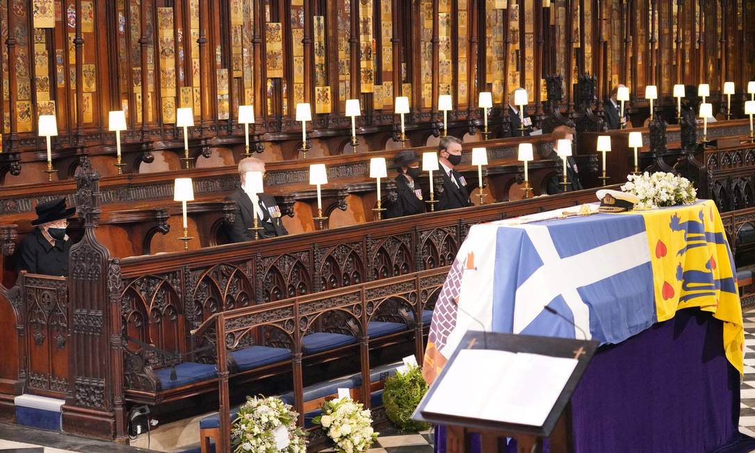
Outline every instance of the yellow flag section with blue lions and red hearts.
MULTIPOLYGON (((636 211, 635 211, 636 213, 636 211)), ((711 200, 642 211, 655 286, 658 322, 699 308, 723 321, 726 358, 744 367, 744 328, 734 258, 711 200)))

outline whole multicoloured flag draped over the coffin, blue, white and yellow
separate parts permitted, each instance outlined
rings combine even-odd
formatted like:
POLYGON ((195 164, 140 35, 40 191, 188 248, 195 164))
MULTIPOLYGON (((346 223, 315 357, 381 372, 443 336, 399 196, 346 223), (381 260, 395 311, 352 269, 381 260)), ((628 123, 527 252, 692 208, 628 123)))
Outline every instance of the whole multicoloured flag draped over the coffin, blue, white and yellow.
POLYGON ((724 322, 726 357, 742 372, 735 266, 712 201, 553 219, 562 211, 534 217, 550 220, 522 217, 472 227, 436 301, 424 359, 427 381, 467 330, 584 335, 616 344, 689 307, 724 322))

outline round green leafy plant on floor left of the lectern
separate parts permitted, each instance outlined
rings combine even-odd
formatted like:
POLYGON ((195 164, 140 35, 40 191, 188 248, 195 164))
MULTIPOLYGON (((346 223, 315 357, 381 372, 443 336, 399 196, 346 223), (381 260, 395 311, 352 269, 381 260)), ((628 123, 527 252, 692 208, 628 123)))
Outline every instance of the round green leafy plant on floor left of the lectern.
POLYGON ((422 377, 422 368, 408 367, 404 374, 388 377, 383 390, 383 405, 388 420, 404 432, 416 433, 430 429, 430 424, 411 420, 411 414, 427 393, 427 382, 422 377))

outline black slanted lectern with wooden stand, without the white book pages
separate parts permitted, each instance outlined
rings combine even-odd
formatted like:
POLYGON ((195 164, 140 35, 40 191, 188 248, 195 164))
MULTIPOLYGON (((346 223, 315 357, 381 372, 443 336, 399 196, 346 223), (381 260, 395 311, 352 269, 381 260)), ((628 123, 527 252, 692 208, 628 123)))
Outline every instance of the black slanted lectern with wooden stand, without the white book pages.
MULTIPOLYGON (((424 421, 430 424, 445 425, 447 427, 447 452, 462 453, 469 450, 467 433, 479 433, 482 437, 482 451, 495 453, 501 451, 507 437, 516 439, 517 448, 520 452, 531 453, 542 451, 543 439, 548 438, 550 451, 568 452, 573 451, 571 433, 571 411, 569 399, 579 380, 587 368, 598 347, 597 341, 581 341, 556 337, 535 337, 520 334, 498 334, 480 331, 467 331, 457 350, 448 360, 443 371, 430 387, 416 411, 414 420, 424 421), (454 367, 460 351, 468 349, 501 350, 510 353, 529 353, 538 356, 562 357, 577 359, 571 375, 565 381, 560 390, 555 404, 550 408, 543 424, 534 426, 531 424, 516 424, 491 420, 489 418, 476 418, 473 416, 459 416, 438 411, 428 410, 428 403, 433 400, 436 390, 448 375, 448 371, 454 367)), ((572 362, 572 361, 568 361, 572 362)), ((574 362, 572 362, 574 364, 574 362)), ((484 371, 483 371, 484 372, 484 371)), ((569 371, 567 371, 568 373, 569 371)), ((551 393, 557 393, 558 389, 550 389, 551 393)), ((430 403, 430 406, 433 406, 430 403)), ((467 414, 470 411, 467 409, 467 414)), ((482 410, 480 411, 482 413, 482 410)))

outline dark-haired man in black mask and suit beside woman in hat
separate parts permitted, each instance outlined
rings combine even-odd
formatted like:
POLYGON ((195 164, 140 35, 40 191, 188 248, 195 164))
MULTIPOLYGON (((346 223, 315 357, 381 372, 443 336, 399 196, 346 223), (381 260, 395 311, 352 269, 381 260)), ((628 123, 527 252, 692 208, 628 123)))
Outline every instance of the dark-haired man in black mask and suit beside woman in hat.
POLYGON ((443 192, 439 194, 436 211, 473 206, 467 192, 467 180, 454 170, 461 163, 461 140, 442 137, 438 143, 438 163, 443 192))

